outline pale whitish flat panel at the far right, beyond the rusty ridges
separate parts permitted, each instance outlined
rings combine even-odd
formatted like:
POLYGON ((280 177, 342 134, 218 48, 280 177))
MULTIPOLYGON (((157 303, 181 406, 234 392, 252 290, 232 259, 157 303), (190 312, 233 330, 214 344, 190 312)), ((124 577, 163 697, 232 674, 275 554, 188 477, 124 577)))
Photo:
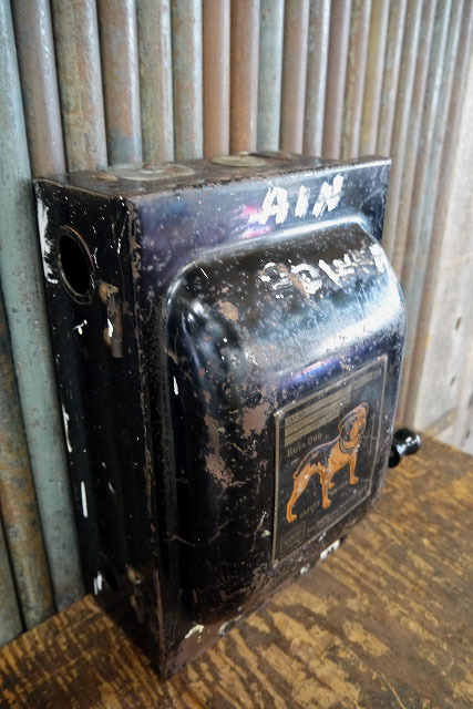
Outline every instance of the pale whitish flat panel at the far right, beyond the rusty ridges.
POLYGON ((415 425, 425 425, 444 414, 452 402, 457 409, 450 442, 459 446, 472 445, 469 438, 473 402, 473 203, 465 201, 465 195, 473 194, 472 39, 473 6, 465 2, 450 100, 449 131, 442 150, 436 214, 421 305, 422 318, 418 322, 413 353, 415 366, 411 372, 410 409, 415 409, 407 413, 407 417, 413 417, 415 425), (448 179, 444 179, 444 175, 448 179), (436 382, 440 380, 441 388, 436 383, 436 395, 433 398, 431 382, 434 378, 436 382))

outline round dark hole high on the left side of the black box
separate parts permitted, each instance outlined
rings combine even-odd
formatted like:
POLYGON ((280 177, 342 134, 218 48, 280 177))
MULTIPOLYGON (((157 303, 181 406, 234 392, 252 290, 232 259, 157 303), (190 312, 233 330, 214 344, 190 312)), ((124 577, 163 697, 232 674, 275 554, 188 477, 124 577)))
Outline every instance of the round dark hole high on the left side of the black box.
POLYGON ((94 290, 92 257, 82 237, 70 227, 63 227, 60 232, 58 264, 61 280, 69 295, 76 302, 92 302, 94 290))

